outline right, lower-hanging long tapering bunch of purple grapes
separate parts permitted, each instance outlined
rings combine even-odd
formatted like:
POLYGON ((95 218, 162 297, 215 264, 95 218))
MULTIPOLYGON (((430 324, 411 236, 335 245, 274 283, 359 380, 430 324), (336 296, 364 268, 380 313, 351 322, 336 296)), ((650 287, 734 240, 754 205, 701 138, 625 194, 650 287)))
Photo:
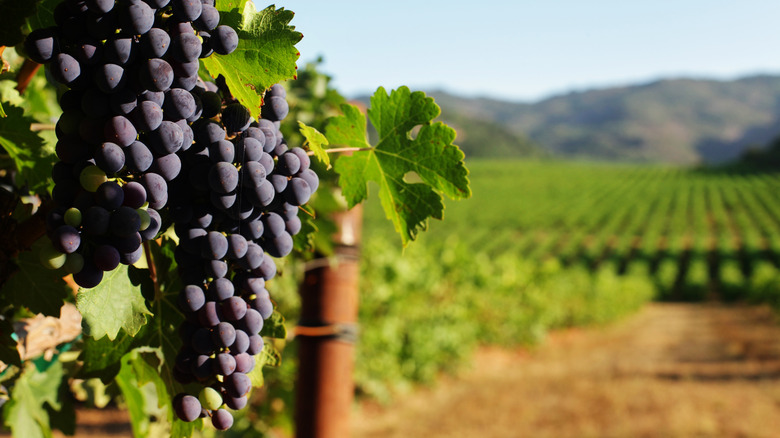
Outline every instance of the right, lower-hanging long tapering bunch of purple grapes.
POLYGON ((179 306, 187 315, 175 377, 202 384, 197 397, 177 395, 174 407, 185 421, 209 415, 217 428, 232 422, 223 404, 247 404, 246 374, 273 312, 265 288, 276 274, 272 257, 292 250, 299 206, 319 184, 307 153, 288 148, 279 131, 288 112, 283 87, 266 92, 258 121, 224 94, 219 121, 193 124, 195 143, 183 153, 187 175, 174 181, 170 205, 186 284, 179 306))

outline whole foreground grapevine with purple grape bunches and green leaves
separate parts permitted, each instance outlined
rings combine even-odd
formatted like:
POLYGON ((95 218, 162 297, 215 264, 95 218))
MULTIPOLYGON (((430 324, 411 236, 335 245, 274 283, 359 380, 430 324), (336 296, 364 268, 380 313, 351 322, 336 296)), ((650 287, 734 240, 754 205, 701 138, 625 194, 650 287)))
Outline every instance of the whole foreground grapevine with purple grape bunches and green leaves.
MULTIPOLYGON (((332 168, 328 154, 381 155, 395 147, 396 136, 411 138, 411 128, 399 124, 372 146, 365 117, 362 123, 344 120, 355 116, 354 107, 344 106, 345 116, 332 118, 331 126, 351 123, 362 130, 334 133, 301 123, 294 138, 305 144, 288 144, 282 127, 290 123, 294 100, 288 102, 284 82, 296 78, 294 45, 302 35, 288 24, 292 13, 274 6, 256 11, 246 0, 40 0, 19 13, 0 35, 7 38, 2 45, 16 46, 26 57, 17 88, 40 87, 35 78, 45 78, 61 113, 49 125, 52 120, 33 120, 8 102, 0 107, 0 116, 21 121, 17 129, 25 130, 7 135, 12 130, 0 118, 0 144, 14 167, 0 177, 15 185, 13 202, 40 201, 29 218, 23 210, 6 216, 4 226, 23 233, 0 242, 10 255, 0 266, 6 425, 25 436, 62 428, 40 411, 58 396, 41 392, 37 399, 25 388, 36 372, 48 373, 51 382, 65 382, 74 372, 80 379, 115 381, 129 404, 146 397, 139 388, 153 383, 156 403, 167 412, 159 421, 167 422, 172 436, 190 436, 204 419, 218 430, 230 428, 235 412, 249 404, 252 387, 261 384, 260 368, 278 360, 278 343, 267 342, 286 337, 272 300, 273 280, 279 260, 313 242, 308 235, 321 220, 318 189, 327 186, 332 198, 367 183, 337 183, 335 175, 321 182, 322 172, 332 168), (36 75, 36 63, 45 65, 45 75, 36 75), (46 126, 52 126, 51 136, 37 133, 46 126), (66 368, 55 355, 41 371, 15 351, 8 321, 36 312, 55 315, 71 301, 63 281, 71 278, 82 335, 61 342, 78 352, 77 365, 66 368), (23 416, 41 419, 34 431, 14 421, 23 416)), ((405 88, 389 97, 423 97, 414 105, 425 110, 409 111, 415 124, 431 125, 431 110, 438 111, 432 99, 405 88)), ((376 108, 388 111, 379 100, 376 108)), ((453 137, 450 131, 436 134, 424 145, 435 153, 455 151, 445 160, 456 158, 455 169, 410 168, 432 189, 394 195, 392 208, 403 217, 410 197, 468 193, 453 137), (430 178, 452 179, 460 193, 430 178)), ((339 161, 335 170, 348 178, 339 161)), ((380 173, 385 167, 400 171, 382 157, 378 162, 380 173)), ((403 192, 401 186, 389 190, 403 192)), ((360 202, 352 198, 350 205, 360 202)), ((422 226, 423 216, 440 214, 416 215, 409 232, 422 226)), ((65 409, 67 404, 54 408, 65 409)), ((132 420, 136 433, 151 421, 132 420)))

